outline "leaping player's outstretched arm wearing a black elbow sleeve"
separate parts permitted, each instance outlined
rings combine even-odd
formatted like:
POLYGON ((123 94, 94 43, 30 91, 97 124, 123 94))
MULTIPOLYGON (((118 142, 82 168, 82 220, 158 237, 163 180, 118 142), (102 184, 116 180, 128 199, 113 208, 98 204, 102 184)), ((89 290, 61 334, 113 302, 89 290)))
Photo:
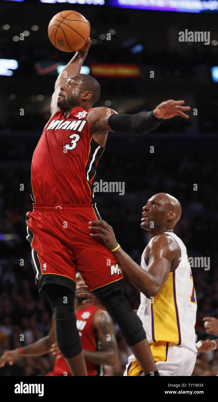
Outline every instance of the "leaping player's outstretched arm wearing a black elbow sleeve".
POLYGON ((135 115, 117 114, 106 107, 93 108, 88 118, 89 126, 92 126, 91 135, 105 135, 108 131, 120 134, 143 135, 157 128, 163 119, 171 119, 181 116, 188 119, 184 111, 190 110, 189 106, 182 106, 184 100, 166 100, 160 103, 153 111, 140 112, 135 115), (90 124, 91 123, 91 124, 90 124))

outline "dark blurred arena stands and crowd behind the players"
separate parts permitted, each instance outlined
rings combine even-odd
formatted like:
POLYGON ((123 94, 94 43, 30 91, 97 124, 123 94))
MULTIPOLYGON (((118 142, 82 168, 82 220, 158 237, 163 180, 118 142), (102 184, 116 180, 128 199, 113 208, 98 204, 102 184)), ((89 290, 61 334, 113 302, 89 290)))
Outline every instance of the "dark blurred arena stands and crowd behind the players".
MULTIPOLYGON (((101 98, 95 106, 138 113, 174 98, 184 99, 191 107, 189 120, 176 117, 164 121, 144 137, 110 133, 95 181, 124 182, 125 194, 95 193, 95 201, 122 248, 140 263, 149 240, 140 228, 142 206, 158 192, 179 199, 183 214, 176 234, 187 246, 189 256, 210 257, 209 270, 194 267, 192 271, 198 303, 197 340, 213 338, 206 336, 202 318, 218 318, 216 68, 214 80, 211 75, 211 68, 218 66, 216 6, 214 12, 212 6, 211 12, 173 12, 113 8, 112 2, 99 3, 0 1, 0 354, 24 346, 19 334, 25 334, 26 345, 45 336, 51 326, 49 304, 35 286, 25 214, 32 209, 31 158, 50 117, 51 94, 58 75, 57 67, 46 68, 56 63, 64 66, 72 57, 72 53, 51 45, 47 25, 54 14, 68 9, 80 12, 91 24, 86 71, 102 62, 137 65, 135 78, 131 77, 131 66, 129 78, 117 78, 116 73, 97 78, 101 98), (210 31, 210 44, 179 42, 179 31, 185 29, 210 31), (25 33, 23 41, 21 33, 25 33), (111 40, 106 39, 107 33, 111 40), (150 71, 154 71, 154 78, 150 78, 150 71), (150 153, 151 146, 154 153, 150 153), (20 265, 21 259, 24 265, 20 265)), ((187 4, 190 9, 191 2, 187 4)), ((152 2, 150 6, 155 8, 152 2)), ((127 280, 125 293, 137 309, 139 292, 127 280)), ((123 374, 130 355, 116 324, 115 333, 119 363, 107 368, 111 376, 123 374)), ((12 367, 0 369, 0 375, 45 375, 52 361, 51 355, 23 358, 12 367)), ((215 376, 217 371, 218 351, 214 351, 199 355, 193 375, 215 376)))

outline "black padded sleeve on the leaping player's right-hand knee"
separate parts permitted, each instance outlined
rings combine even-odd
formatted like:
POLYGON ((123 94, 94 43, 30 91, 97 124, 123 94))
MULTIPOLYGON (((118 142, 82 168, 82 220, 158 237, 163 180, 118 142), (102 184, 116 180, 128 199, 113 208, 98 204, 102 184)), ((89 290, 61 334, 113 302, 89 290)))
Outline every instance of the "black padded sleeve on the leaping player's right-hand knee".
POLYGON ((123 295, 122 281, 95 289, 93 293, 117 322, 125 342, 130 347, 146 339, 142 321, 123 295))

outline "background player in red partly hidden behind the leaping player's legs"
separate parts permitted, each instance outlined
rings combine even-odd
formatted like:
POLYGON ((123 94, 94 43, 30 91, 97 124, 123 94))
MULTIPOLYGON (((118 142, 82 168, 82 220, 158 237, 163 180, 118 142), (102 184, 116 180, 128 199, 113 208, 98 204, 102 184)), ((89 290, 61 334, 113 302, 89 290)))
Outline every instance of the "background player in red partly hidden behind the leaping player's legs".
MULTIPOLYGON (((103 365, 113 366, 117 361, 117 342, 113 333, 113 321, 107 312, 92 305, 87 307, 82 304, 84 297, 79 296, 78 287, 85 283, 80 273, 76 274, 76 281, 75 314, 87 373, 90 376, 103 375, 103 365)), ((55 322, 52 318, 52 328, 47 336, 23 348, 4 352, 0 357, 0 367, 3 367, 6 362, 12 365, 20 357, 46 355, 52 349, 56 349, 51 348, 55 342, 55 322)), ((60 352, 57 354, 52 371, 46 375, 71 375, 60 352)))

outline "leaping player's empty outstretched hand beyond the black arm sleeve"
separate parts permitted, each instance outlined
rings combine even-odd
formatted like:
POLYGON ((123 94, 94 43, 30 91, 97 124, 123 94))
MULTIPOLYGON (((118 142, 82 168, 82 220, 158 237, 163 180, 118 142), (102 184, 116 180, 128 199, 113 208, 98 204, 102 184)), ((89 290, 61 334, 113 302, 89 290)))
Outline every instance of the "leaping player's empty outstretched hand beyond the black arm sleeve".
POLYGON ((185 117, 185 119, 189 119, 188 115, 185 115, 183 111, 190 110, 189 106, 181 106, 185 102, 184 100, 165 100, 165 102, 160 103, 154 110, 153 114, 158 119, 171 119, 174 116, 185 117))

